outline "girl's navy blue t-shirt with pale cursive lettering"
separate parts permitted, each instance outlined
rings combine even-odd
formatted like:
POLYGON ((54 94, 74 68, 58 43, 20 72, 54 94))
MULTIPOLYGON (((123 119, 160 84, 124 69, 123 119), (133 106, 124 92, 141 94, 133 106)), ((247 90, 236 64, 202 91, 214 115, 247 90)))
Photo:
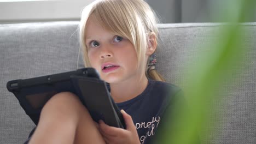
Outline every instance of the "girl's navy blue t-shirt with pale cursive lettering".
MULTIPOLYGON (((141 94, 117 103, 120 110, 125 110, 132 117, 141 143, 152 141, 165 110, 179 92, 181 89, 177 86, 149 79, 148 86, 141 94)), ((34 129, 25 143, 28 143, 33 132, 34 129)))

